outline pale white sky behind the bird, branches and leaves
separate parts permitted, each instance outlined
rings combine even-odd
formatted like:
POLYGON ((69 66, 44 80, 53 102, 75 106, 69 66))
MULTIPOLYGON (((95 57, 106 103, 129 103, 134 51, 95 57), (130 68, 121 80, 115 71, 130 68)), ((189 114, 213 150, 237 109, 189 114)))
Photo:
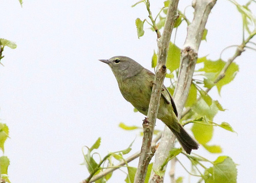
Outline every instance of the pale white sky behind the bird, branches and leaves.
MULTIPOLYGON (((153 15, 162 7, 158 2, 151 1, 153 15)), ((80 182, 89 175, 79 165, 81 148, 91 146, 99 136, 101 156, 127 148, 136 136, 132 152, 140 149, 139 131, 127 132, 118 124, 141 126, 144 116, 133 112, 110 68, 98 61, 125 55, 151 69, 156 35, 145 29, 145 35, 137 38, 135 19, 144 19, 147 12, 143 4, 131 8, 134 3, 25 0, 20 8, 17 0, 0 1, 0 37, 17 43, 17 49, 5 49, 5 66, 0 66, 0 119, 10 129, 5 155, 11 161, 12 183, 80 182)), ((180 10, 189 4, 181 1, 180 10)), ((255 5, 252 10, 256 14, 255 5)), ((193 8, 186 9, 187 15, 192 12, 193 8)), ((218 1, 206 24, 207 42, 202 42, 199 56, 218 59, 224 48, 240 44, 241 24, 234 5, 218 1)), ((180 47, 185 36, 183 25, 176 38, 180 47)), ((222 58, 233 52, 226 50, 222 58)), ((228 109, 219 112, 215 122, 230 123, 238 135, 215 128, 210 144, 221 145, 221 154, 239 164, 238 182, 256 179, 255 58, 255 51, 247 49, 236 59, 240 72, 223 87, 221 97, 216 89, 211 91, 228 109)), ((163 129, 162 122, 157 121, 156 128, 163 129)), ((203 147, 197 153, 211 161, 221 155, 203 147)), ((177 164, 176 176, 182 175, 187 173, 177 164)), ((109 182, 123 182, 125 176, 116 171, 109 182)))

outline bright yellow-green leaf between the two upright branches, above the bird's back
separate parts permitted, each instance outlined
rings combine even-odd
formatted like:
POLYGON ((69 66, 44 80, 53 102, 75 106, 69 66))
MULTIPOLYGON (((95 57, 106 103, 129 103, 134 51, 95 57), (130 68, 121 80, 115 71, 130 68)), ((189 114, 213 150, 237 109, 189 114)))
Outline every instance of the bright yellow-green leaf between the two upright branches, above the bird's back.
POLYGON ((166 67, 173 72, 180 66, 180 48, 172 42, 169 43, 168 55, 166 60, 166 67))

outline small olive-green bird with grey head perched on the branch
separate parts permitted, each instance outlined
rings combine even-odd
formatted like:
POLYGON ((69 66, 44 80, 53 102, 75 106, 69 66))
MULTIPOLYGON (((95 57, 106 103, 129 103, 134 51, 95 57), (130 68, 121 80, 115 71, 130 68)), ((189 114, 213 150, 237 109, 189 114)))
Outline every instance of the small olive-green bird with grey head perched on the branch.
MULTIPOLYGON (((123 97, 147 116, 155 74, 125 56, 100 61, 111 67, 123 97)), ((190 154, 192 149, 198 149, 198 143, 184 130, 177 117, 174 100, 163 85, 157 118, 172 130, 183 149, 190 154)))

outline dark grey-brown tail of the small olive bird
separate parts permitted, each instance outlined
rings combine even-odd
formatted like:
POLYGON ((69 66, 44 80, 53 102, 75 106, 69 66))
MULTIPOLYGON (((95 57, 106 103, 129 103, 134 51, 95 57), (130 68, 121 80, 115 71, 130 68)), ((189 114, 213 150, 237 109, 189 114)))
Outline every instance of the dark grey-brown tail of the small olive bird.
POLYGON ((183 149, 186 151, 186 153, 190 154, 192 149, 198 149, 199 145, 198 143, 185 131, 183 126, 179 123, 180 131, 176 131, 172 127, 169 127, 170 130, 174 133, 177 140, 183 147, 183 149))

